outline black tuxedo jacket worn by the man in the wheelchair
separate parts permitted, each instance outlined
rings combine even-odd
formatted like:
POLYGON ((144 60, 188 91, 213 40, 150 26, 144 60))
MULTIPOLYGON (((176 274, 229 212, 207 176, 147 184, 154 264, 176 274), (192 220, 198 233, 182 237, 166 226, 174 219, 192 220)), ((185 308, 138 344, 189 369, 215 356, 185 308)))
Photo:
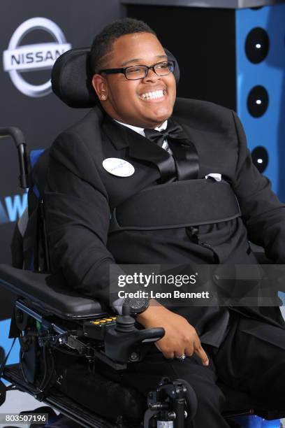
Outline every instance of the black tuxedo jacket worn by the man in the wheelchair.
MULTIPOLYGON (((156 159, 167 153, 98 107, 52 145, 45 190, 52 270, 62 271, 72 287, 106 304, 110 264, 255 264, 248 241, 263 246, 273 262, 285 263, 285 206, 252 164, 237 115, 205 101, 178 99, 173 119, 196 146, 198 178, 221 173, 238 198, 242 217, 196 228, 108 234, 112 208, 159 185, 156 159), (111 175, 102 166, 109 157, 126 159, 135 173, 111 175)), ((228 324, 226 308, 179 311, 204 343, 219 344, 228 324)), ((273 324, 279 320, 278 314, 274 320, 255 308, 240 311, 273 324)))

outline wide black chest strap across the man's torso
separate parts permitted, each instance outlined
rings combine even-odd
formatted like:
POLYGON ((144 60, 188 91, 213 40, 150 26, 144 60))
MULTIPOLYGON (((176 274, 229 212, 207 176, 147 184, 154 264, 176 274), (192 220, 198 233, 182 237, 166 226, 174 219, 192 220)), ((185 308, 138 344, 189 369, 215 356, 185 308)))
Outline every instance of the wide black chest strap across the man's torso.
POLYGON ((198 226, 240 215, 238 200, 226 181, 175 181, 142 190, 114 208, 109 233, 198 226))

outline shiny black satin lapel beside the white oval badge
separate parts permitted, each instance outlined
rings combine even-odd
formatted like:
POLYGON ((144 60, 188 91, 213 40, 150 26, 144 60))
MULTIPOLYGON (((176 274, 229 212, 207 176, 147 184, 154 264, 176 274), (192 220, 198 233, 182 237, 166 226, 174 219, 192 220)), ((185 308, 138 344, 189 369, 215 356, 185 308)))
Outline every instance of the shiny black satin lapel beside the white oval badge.
POLYGON ((129 147, 129 157, 156 165, 161 173, 161 182, 166 183, 175 177, 173 157, 145 136, 124 127, 108 116, 103 121, 102 129, 117 150, 129 147))

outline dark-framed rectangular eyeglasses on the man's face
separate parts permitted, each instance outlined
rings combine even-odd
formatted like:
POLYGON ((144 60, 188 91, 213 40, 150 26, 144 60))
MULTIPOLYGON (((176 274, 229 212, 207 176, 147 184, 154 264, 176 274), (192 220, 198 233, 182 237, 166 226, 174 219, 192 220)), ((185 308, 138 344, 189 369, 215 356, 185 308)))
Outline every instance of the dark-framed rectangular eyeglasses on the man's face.
POLYGON ((168 74, 173 73, 174 66, 174 61, 163 61, 158 62, 157 64, 154 64, 152 66, 129 66, 125 67, 124 69, 106 69, 100 70, 99 73, 123 73, 126 76, 126 79, 128 80, 138 80, 146 78, 149 69, 154 71, 157 76, 167 76, 168 74))

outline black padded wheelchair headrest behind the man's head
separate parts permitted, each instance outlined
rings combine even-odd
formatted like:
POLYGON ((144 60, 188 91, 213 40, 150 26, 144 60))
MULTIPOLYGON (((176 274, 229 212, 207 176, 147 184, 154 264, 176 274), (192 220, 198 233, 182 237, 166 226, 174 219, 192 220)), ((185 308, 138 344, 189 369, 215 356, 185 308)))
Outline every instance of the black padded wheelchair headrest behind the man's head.
MULTIPOLYGON (((165 49, 170 61, 175 61, 174 76, 180 79, 180 69, 175 57, 165 49)), ((71 49, 61 55, 52 69, 52 90, 54 94, 73 108, 91 108, 98 104, 98 97, 92 87, 92 71, 89 64, 90 50, 71 49)))

